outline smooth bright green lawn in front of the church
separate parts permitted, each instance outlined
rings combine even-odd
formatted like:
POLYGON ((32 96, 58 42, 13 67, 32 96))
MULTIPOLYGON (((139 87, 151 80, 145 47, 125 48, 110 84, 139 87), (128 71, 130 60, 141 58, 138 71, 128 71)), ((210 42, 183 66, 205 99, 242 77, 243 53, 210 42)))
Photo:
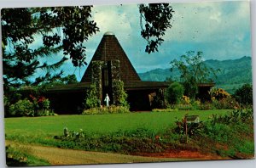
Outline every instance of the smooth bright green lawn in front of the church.
POLYGON ((86 133, 108 133, 119 130, 131 130, 144 127, 161 132, 169 126, 174 126, 175 120, 185 114, 199 115, 200 120, 207 120, 212 114, 224 114, 221 110, 192 110, 177 112, 143 112, 113 115, 58 115, 47 117, 6 118, 5 133, 10 136, 55 136, 61 135, 63 128, 70 131, 83 129, 86 133))

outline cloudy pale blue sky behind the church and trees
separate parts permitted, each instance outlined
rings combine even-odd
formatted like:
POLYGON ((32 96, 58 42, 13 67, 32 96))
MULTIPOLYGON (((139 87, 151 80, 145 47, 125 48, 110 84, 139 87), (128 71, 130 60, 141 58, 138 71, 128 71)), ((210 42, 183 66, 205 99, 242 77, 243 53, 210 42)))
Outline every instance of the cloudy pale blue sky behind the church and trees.
MULTIPOLYGON (((203 52, 204 59, 239 59, 251 56, 251 25, 249 1, 171 3, 175 13, 172 28, 163 36, 165 42, 159 52, 145 53, 147 42, 140 36, 140 20, 137 4, 95 5, 92 20, 100 31, 90 36, 87 48, 87 63, 96 51, 102 36, 112 31, 125 50, 138 73, 157 68, 170 68, 170 62, 188 51, 203 52)), ((42 45, 38 36, 32 48, 42 45)), ((61 59, 60 53, 55 60, 61 59)), ((50 62, 55 62, 51 60, 50 62)), ((49 61, 49 60, 48 60, 49 61)), ((65 75, 75 74, 78 80, 87 66, 74 68, 68 60, 61 69, 65 75)), ((38 74, 42 71, 38 71, 38 74)), ((38 75, 37 74, 37 75, 38 75)))

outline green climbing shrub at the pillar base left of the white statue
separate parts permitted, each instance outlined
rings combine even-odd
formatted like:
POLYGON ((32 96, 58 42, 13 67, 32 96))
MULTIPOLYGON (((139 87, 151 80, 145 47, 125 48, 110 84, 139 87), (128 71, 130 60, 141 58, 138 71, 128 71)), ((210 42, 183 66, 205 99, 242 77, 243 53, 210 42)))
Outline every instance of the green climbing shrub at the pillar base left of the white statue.
POLYGON ((101 101, 96 96, 97 90, 96 90, 96 84, 93 83, 90 85, 90 88, 87 90, 86 97, 85 97, 85 103, 84 107, 85 109, 91 109, 95 107, 99 107, 101 104, 101 101))

